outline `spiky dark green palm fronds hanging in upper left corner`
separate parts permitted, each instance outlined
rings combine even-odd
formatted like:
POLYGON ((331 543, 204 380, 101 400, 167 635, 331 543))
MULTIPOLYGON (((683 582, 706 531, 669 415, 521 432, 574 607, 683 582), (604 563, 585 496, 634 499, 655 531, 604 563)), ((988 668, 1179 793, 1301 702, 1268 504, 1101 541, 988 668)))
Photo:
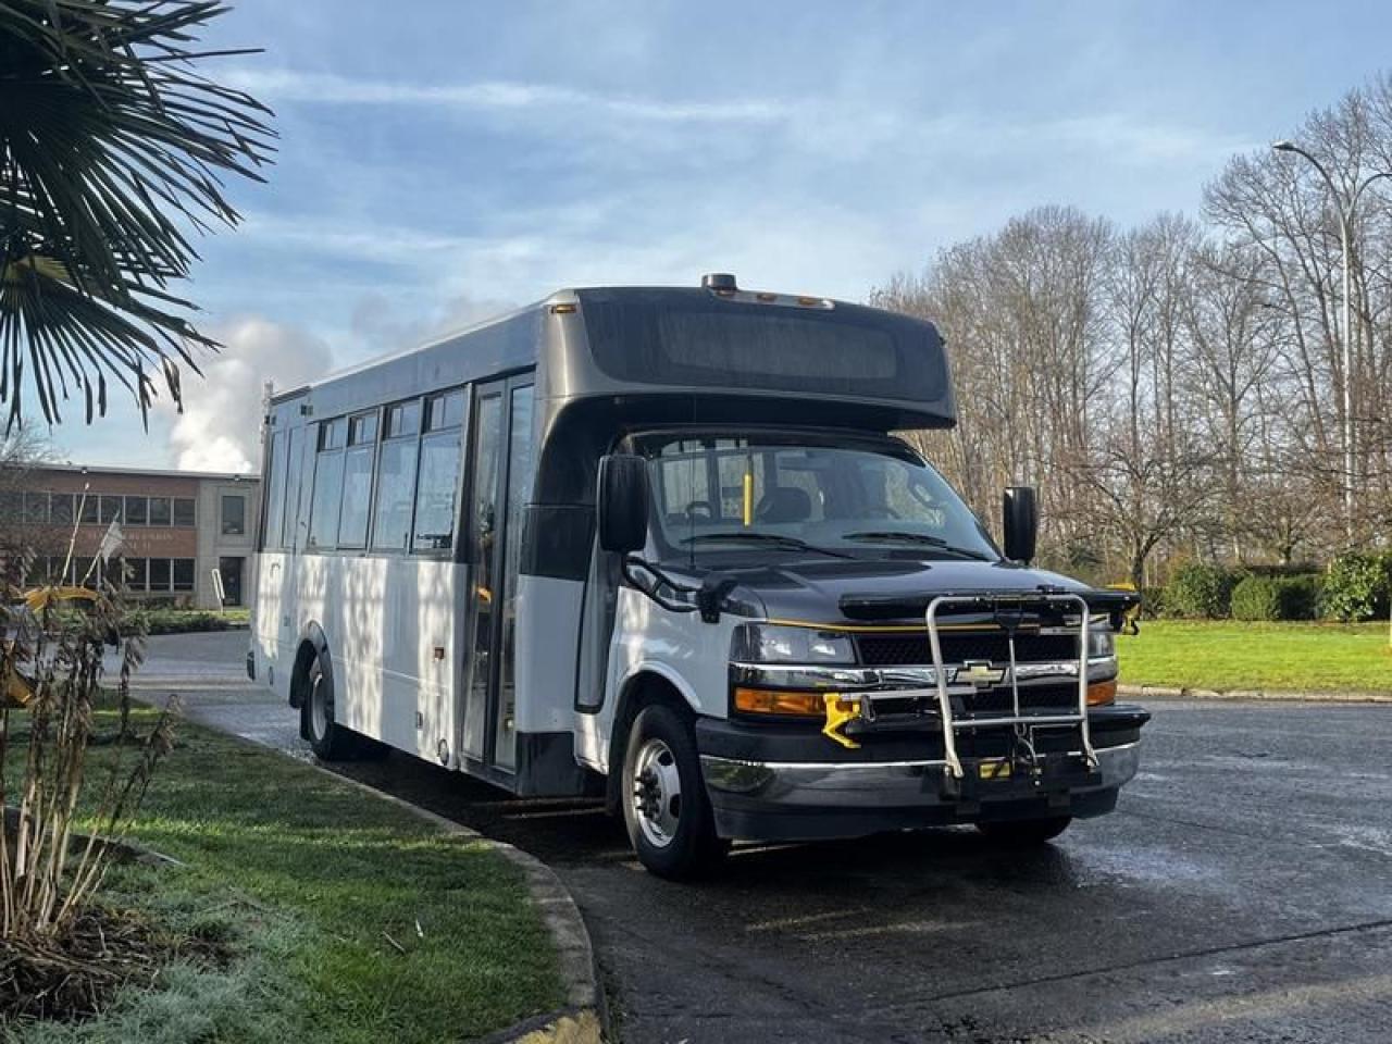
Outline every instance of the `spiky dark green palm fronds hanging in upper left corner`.
POLYGON ((148 415, 156 380, 217 345, 171 287, 191 234, 241 219, 221 177, 260 181, 270 110, 196 71, 216 0, 0 0, 0 404, 45 419, 116 380, 148 415))

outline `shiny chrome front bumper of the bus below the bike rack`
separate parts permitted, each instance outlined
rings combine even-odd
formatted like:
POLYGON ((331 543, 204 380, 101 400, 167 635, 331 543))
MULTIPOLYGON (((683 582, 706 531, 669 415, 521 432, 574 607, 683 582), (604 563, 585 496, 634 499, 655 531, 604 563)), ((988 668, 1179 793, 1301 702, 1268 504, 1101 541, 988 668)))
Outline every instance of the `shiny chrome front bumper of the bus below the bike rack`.
MULTIPOLYGON (((1055 757, 1059 757, 1055 754, 1055 757)), ((1140 766, 1140 743, 1100 748, 1100 782, 1070 793, 1115 791, 1140 766)), ((938 786, 945 760, 935 761, 741 761, 702 754, 706 786, 715 805, 722 796, 754 799, 780 810, 952 806, 938 786)))

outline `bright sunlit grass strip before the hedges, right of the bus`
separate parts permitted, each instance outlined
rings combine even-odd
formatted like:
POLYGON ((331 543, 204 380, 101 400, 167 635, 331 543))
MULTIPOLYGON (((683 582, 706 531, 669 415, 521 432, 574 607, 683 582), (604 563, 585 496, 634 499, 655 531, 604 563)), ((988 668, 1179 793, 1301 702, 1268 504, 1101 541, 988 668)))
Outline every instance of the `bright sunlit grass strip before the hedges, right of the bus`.
POLYGON ((1193 689, 1392 692, 1392 650, 1381 624, 1141 624, 1116 639, 1121 681, 1193 689))

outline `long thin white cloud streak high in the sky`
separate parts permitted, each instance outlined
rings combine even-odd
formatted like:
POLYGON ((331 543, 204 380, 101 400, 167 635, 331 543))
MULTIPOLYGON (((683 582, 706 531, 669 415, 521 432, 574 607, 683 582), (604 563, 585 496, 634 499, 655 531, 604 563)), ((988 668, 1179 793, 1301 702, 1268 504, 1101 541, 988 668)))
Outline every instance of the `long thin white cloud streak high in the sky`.
POLYGON ((447 109, 516 111, 526 109, 589 109, 656 122, 766 122, 786 114, 771 100, 668 102, 631 95, 606 95, 554 84, 482 81, 477 84, 412 84, 352 79, 326 72, 235 68, 223 74, 228 86, 276 102, 308 104, 441 106, 447 109))

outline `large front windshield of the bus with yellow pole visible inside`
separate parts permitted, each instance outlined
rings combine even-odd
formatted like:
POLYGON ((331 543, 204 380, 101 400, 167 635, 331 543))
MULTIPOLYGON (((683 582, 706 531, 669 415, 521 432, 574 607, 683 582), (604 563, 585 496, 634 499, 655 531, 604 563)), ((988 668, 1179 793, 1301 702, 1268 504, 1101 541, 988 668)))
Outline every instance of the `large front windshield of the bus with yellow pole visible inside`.
POLYGON ((976 515, 903 444, 807 434, 649 436, 663 555, 749 550, 998 561, 976 515))

